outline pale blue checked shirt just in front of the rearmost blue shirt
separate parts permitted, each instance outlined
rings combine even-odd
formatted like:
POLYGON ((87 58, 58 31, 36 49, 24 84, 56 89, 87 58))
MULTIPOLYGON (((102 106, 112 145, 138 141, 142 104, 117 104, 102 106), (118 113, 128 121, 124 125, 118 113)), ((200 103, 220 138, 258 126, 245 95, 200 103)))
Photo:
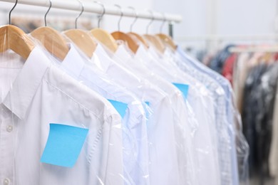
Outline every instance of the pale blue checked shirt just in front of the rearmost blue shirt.
POLYGON ((209 76, 205 73, 201 73, 195 68, 190 67, 190 65, 185 65, 182 62, 182 58, 177 58, 178 60, 173 60, 178 66, 184 70, 186 73, 192 75, 201 83, 206 85, 207 89, 210 90, 211 95, 214 100, 215 106, 215 118, 216 118, 216 129, 217 129, 217 147, 219 154, 219 164, 221 171, 221 182, 232 184, 232 152, 231 152, 231 137, 229 134, 229 124, 227 120, 227 113, 225 107, 225 91, 209 76))

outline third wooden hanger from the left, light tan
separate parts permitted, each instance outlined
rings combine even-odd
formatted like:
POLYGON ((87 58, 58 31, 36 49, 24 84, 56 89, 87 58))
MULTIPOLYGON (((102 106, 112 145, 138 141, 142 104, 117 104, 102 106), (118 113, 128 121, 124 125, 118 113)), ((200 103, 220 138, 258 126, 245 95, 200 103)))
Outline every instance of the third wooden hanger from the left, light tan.
POLYGON ((63 32, 68 38, 73 41, 73 43, 78 46, 78 48, 83 51, 83 53, 88 56, 88 58, 92 58, 93 52, 96 50, 97 44, 93 41, 93 38, 83 30, 79 29, 71 29, 63 32))

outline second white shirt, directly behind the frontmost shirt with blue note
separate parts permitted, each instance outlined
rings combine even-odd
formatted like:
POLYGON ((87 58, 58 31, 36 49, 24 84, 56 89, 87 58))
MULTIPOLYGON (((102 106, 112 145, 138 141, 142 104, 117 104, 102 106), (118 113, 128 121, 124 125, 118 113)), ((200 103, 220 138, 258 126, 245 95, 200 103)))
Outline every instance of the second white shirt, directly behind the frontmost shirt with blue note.
MULTIPOLYGON (((93 61, 101 63, 96 60, 98 57, 95 55, 93 61)), ((122 125, 125 184, 150 184, 148 135, 142 103, 128 90, 113 83, 105 73, 90 66, 92 63, 87 63, 86 58, 78 53, 73 44, 66 58, 62 62, 58 61, 61 69, 103 97, 128 104, 122 125)))

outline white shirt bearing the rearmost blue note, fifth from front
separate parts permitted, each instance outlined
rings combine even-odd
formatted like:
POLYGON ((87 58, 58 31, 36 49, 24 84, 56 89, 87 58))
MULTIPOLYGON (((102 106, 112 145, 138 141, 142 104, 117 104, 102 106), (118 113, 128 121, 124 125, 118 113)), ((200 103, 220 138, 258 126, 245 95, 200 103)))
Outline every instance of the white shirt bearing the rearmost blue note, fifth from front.
MULTIPOLYGON (((149 52, 152 52, 152 49, 150 47, 149 52)), ((168 60, 155 58, 143 47, 138 48, 135 57, 142 58, 141 61, 149 69, 166 80, 190 85, 186 104, 190 135, 192 135, 190 139, 193 142, 192 155, 195 157, 192 159, 195 179, 197 179, 195 184, 220 184, 214 107, 206 88, 194 78, 179 71, 172 63, 168 63, 168 60)))

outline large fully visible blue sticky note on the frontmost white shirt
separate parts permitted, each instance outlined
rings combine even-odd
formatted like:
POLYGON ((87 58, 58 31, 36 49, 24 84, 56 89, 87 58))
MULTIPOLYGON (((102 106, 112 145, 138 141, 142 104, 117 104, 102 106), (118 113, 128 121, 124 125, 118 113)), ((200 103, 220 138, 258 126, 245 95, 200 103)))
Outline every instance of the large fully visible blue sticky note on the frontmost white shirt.
POLYGON ((51 123, 41 162, 73 167, 87 134, 88 129, 51 123))

